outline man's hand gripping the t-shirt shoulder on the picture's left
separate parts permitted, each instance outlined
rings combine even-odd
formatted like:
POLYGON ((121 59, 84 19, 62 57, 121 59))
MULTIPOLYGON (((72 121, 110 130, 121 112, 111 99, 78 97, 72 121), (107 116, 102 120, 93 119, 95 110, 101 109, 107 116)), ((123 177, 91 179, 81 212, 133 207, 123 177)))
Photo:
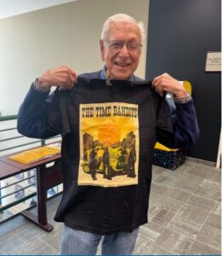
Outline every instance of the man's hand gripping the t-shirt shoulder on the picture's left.
POLYGON ((37 79, 37 84, 45 89, 50 89, 54 85, 60 90, 69 90, 75 83, 77 83, 77 73, 66 66, 49 69, 37 79))

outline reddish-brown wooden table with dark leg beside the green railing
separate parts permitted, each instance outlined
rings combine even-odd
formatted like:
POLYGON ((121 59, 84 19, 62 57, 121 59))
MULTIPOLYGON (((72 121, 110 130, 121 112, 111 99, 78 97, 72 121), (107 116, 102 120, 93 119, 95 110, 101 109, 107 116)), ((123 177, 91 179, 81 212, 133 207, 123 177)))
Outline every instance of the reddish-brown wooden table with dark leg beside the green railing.
MULTIPOLYGON (((20 152, 16 152, 16 154, 20 152)), ((54 229, 47 220, 47 189, 62 183, 62 172, 60 163, 60 154, 39 160, 34 164, 25 165, 14 160, 9 160, 12 154, 0 157, 0 180, 14 176, 20 172, 26 172, 31 169, 37 170, 37 216, 27 210, 20 212, 25 218, 28 218, 34 224, 37 224, 43 230, 51 231, 54 229), (47 164, 54 162, 53 166, 47 164)))

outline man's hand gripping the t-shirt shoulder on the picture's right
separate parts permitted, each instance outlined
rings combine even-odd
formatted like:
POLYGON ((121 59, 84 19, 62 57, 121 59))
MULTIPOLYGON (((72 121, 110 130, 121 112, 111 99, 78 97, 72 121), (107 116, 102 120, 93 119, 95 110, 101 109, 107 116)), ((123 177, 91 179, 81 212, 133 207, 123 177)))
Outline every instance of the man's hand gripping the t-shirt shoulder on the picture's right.
POLYGON ((168 73, 163 73, 152 81, 153 87, 160 96, 164 95, 164 92, 170 92, 175 97, 185 97, 187 92, 184 86, 179 84, 179 81, 171 77, 168 73))

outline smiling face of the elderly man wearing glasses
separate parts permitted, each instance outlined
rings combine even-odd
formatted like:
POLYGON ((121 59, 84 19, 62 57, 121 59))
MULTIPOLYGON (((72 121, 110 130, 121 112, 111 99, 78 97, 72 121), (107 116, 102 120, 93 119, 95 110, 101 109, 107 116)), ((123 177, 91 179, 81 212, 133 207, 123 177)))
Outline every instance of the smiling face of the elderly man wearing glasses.
POLYGON ((134 73, 141 53, 139 38, 136 25, 128 22, 111 24, 107 41, 100 40, 101 57, 109 79, 127 80, 134 73), (122 49, 119 44, 123 44, 122 49))

